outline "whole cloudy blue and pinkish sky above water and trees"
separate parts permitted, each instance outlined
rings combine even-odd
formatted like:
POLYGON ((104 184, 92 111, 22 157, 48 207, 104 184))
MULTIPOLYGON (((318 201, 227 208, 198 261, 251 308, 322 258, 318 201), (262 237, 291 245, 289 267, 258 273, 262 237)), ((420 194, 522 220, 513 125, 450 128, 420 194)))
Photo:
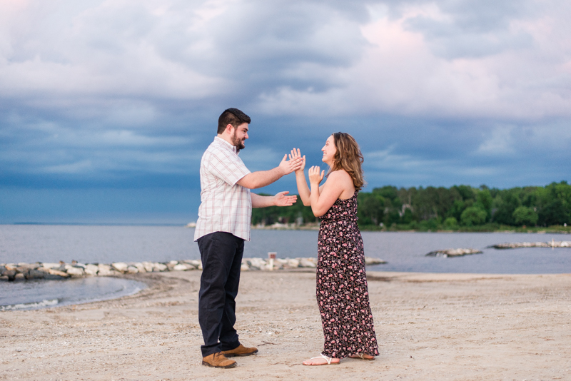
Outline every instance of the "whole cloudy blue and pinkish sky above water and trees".
POLYGON ((251 171, 293 147, 323 167, 343 131, 364 191, 571 181, 570 19, 567 0, 0 0, 0 223, 196 220, 229 107, 251 171))

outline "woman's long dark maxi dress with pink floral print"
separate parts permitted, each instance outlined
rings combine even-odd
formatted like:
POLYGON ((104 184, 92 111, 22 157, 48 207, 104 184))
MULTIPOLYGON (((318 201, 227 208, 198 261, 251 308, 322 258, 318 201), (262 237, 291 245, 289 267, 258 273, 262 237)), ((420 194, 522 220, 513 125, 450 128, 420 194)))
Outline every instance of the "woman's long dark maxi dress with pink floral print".
POLYGON ((357 192, 335 203, 321 218, 318 238, 317 303, 323 325, 323 355, 377 356, 370 310, 363 239, 357 225, 357 192))

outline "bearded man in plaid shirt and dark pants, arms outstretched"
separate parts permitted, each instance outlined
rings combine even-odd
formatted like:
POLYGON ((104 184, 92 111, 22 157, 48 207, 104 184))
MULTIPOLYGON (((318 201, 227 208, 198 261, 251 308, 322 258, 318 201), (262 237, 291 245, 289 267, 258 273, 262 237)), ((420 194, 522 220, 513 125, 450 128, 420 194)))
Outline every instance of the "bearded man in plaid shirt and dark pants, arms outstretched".
POLYGON ((267 186, 301 166, 300 158, 286 161, 270 171, 250 172, 238 152, 248 138, 251 119, 237 108, 228 108, 218 118, 218 136, 201 160, 201 206, 194 240, 202 259, 201 290, 198 293, 198 322, 204 345, 202 364, 235 367, 233 356, 253 355, 258 350, 244 347, 234 329, 236 302, 244 241, 250 240, 252 208, 288 206, 295 195, 274 196, 250 193, 267 186))

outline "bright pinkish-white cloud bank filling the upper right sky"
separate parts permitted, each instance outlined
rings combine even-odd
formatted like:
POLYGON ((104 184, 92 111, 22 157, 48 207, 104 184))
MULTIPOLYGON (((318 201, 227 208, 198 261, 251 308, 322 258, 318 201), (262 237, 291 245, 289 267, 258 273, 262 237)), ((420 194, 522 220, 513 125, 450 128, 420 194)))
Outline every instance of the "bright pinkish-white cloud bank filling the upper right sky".
POLYGON ((386 7, 373 7, 370 13, 375 19, 361 26, 370 43, 361 59, 349 68, 325 71, 335 78, 335 86, 321 92, 273 88, 261 94, 262 109, 311 113, 325 108, 340 115, 398 113, 520 121, 571 116, 571 39, 565 37, 571 35, 566 21, 571 11, 557 7, 560 1, 549 4, 537 14, 492 15, 489 18, 499 25, 487 20, 490 25, 480 29, 460 28, 458 24, 467 23, 464 15, 447 13, 444 2, 413 3, 398 17, 386 7), (430 25, 411 28, 411 21, 420 17, 430 20, 430 25), (446 31, 445 39, 435 41, 434 30, 451 24, 458 30, 446 31), (482 45, 482 50, 478 44, 490 47, 482 45), (443 49, 458 53, 443 56, 443 49), (458 49, 480 50, 461 54, 458 49))

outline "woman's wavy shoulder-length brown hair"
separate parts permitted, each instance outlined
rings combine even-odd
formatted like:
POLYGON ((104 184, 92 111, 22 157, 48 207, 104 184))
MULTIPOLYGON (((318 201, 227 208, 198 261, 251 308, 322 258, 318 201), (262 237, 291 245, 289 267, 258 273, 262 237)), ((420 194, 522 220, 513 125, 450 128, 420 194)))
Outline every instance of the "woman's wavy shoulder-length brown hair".
POLYGON ((335 155, 333 156, 333 167, 330 172, 344 169, 349 176, 353 178, 355 191, 360 191, 365 186, 363 179, 363 153, 359 145, 348 133, 335 132, 332 133, 333 142, 335 143, 335 155))

